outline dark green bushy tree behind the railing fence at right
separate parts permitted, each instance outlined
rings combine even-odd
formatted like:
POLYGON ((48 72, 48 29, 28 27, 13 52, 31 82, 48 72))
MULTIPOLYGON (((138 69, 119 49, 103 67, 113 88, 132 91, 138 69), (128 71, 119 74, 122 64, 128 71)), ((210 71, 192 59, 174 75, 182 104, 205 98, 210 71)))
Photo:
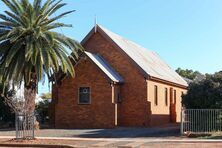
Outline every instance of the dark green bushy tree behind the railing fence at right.
POLYGON ((182 103, 191 109, 222 109, 222 72, 191 83, 182 103))

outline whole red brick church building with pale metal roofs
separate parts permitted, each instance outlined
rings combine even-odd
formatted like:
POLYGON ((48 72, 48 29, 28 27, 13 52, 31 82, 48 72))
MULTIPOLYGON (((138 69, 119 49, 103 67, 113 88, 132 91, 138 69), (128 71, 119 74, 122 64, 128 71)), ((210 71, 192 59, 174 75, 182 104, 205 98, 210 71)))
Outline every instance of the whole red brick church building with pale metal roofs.
POLYGON ((187 83, 157 53, 96 25, 75 77, 54 85, 55 128, 149 127, 180 121, 187 83))

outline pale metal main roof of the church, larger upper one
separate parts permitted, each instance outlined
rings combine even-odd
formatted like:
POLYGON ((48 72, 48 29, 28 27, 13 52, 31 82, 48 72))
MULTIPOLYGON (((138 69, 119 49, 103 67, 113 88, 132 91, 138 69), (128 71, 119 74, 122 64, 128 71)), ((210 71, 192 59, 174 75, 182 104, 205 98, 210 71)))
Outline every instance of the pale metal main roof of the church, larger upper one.
MULTIPOLYGON (((146 77, 156 78, 170 83, 188 86, 187 82, 179 76, 160 56, 132 41, 129 41, 120 35, 117 35, 101 25, 95 26, 98 32, 106 35, 111 41, 125 52, 142 69, 146 77)), ((81 42, 84 44, 94 33, 93 28, 90 33, 81 42)))

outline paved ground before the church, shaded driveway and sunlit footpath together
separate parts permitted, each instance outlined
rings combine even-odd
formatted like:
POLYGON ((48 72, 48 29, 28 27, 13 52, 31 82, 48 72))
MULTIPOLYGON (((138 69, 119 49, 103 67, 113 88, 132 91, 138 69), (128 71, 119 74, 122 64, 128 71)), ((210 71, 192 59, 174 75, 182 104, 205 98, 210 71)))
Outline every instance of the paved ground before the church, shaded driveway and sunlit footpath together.
MULTIPOLYGON (((1 144, 10 144, 15 138, 14 130, 0 130, 1 144)), ((43 129, 36 131, 37 140, 25 144, 56 144, 69 147, 110 148, 220 148, 220 139, 191 139, 180 136, 178 126, 159 128, 115 128, 115 129, 43 129)), ((19 143, 14 143, 19 144, 19 143)), ((23 143, 21 143, 23 144, 23 143)), ((21 145, 20 145, 21 146, 21 145)), ((24 145, 23 145, 24 146, 24 145)))

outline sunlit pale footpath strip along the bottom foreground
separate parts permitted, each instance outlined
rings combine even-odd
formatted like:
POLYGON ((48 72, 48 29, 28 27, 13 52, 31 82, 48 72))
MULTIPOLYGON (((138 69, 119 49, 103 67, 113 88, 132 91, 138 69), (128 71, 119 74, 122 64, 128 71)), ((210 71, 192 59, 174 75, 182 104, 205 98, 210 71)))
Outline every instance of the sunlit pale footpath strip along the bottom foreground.
MULTIPOLYGON (((7 139, 13 137, 0 137, 1 144, 7 144, 7 139), (6 139, 5 139, 6 138, 6 139)), ((37 137, 36 141, 13 143, 16 146, 34 147, 39 144, 78 148, 220 148, 222 140, 199 140, 199 139, 165 139, 165 138, 70 138, 70 137, 37 137), (22 145, 23 144, 23 145, 22 145), (28 145, 29 144, 29 145, 28 145)), ((6 146, 6 145, 4 145, 6 146)), ((10 145, 9 145, 10 146, 10 145)), ((14 145, 15 146, 15 145, 14 145)))

